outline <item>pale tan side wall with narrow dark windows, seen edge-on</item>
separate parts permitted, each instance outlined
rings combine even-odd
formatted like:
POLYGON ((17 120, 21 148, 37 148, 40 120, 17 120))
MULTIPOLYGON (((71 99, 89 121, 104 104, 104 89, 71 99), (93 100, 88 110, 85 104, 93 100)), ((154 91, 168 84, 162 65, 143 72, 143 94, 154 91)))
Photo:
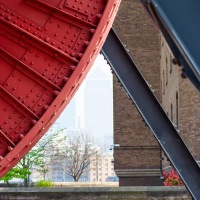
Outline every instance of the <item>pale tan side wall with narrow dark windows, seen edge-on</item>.
MULTIPOLYGON (((161 103, 172 122, 179 126, 179 81, 181 68, 173 64, 173 55, 170 53, 169 47, 163 37, 161 37, 161 59, 160 59, 160 84, 161 84, 161 103)), ((170 163, 163 154, 162 167, 166 171, 170 170, 170 163)))

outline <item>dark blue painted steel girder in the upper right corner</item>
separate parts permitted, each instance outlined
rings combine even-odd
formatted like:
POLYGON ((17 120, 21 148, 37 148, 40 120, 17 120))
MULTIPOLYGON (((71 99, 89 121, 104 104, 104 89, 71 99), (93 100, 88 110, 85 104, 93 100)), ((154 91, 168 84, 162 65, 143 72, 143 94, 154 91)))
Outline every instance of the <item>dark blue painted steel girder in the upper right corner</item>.
POLYGON ((200 1, 141 1, 159 24, 186 76, 200 90, 200 1))

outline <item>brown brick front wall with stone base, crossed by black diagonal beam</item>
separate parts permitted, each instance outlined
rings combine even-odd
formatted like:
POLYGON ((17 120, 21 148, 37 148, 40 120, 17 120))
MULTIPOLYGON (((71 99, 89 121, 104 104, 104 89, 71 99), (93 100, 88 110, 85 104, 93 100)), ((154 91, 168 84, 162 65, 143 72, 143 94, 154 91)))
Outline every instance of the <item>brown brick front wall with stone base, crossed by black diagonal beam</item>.
MULTIPOLYGON (((122 0, 114 29, 160 99, 160 36, 138 0, 122 0)), ((116 78, 114 143, 120 145, 114 161, 121 186, 162 184, 159 145, 116 78)))

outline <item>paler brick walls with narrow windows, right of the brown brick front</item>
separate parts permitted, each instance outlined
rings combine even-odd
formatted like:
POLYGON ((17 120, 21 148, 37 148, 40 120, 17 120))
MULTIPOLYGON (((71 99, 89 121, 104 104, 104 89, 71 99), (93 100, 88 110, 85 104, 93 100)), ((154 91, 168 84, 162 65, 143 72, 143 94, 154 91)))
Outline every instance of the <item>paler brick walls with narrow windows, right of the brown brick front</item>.
MULTIPOLYGON (((172 63, 164 38, 161 39, 162 106, 196 160, 200 161, 200 93, 181 76, 182 67, 172 63)), ((166 159, 165 159, 166 161, 166 159)), ((169 163, 164 162, 166 167, 169 163)))

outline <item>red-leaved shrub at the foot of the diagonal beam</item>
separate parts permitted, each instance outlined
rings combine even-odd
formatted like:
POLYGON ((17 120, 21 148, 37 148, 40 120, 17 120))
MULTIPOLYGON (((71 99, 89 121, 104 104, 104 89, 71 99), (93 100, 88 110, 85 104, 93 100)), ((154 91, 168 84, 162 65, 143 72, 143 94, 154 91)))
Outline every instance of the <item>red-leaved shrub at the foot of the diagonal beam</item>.
POLYGON ((183 186, 183 181, 175 170, 170 172, 163 172, 165 181, 163 182, 164 186, 183 186))

